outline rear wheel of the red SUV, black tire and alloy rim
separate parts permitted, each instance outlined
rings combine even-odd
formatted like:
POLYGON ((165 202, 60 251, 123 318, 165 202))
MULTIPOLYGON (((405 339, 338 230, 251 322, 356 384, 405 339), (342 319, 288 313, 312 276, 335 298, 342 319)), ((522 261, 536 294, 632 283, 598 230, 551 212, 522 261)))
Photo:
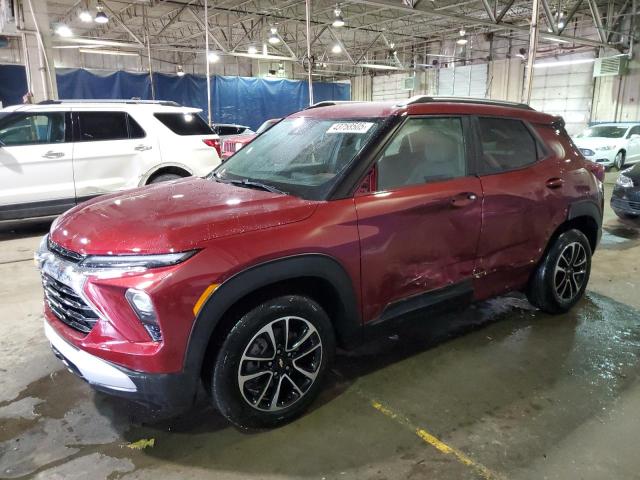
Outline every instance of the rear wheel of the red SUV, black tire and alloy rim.
POLYGON ((554 240, 540 261, 529 281, 527 297, 531 304, 544 312, 564 313, 584 295, 590 273, 589 240, 579 230, 568 230, 554 240), (580 247, 575 246, 574 250, 571 250, 572 245, 580 247), (574 252, 575 255, 584 252, 584 259, 579 256, 569 265, 567 258, 574 252), (582 263, 583 260, 584 263, 582 263), (580 273, 582 271, 584 271, 583 274, 580 273))

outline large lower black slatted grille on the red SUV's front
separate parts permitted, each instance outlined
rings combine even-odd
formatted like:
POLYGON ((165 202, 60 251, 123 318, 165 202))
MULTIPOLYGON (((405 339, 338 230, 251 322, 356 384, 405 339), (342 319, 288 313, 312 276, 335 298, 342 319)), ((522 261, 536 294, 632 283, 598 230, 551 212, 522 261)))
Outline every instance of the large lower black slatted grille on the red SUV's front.
POLYGON ((42 285, 47 305, 61 322, 82 333, 91 331, 98 315, 73 289, 46 273, 42 285))

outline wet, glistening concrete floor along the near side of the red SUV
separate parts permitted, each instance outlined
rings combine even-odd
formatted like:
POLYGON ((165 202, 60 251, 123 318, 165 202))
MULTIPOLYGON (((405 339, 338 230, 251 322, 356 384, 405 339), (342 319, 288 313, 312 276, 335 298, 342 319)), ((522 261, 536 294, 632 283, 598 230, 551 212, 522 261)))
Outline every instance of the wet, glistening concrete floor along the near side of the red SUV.
MULTIPOLYGON (((59 371, 30 384, 14 401, 0 404, 0 477, 26 477, 97 453, 114 459, 114 471, 118 467, 122 472, 164 463, 247 474, 311 475, 317 473, 314 468, 326 471, 327 465, 321 465, 320 460, 306 467, 299 462, 288 465, 283 460, 285 452, 305 449, 319 449, 318 458, 323 451, 335 456, 331 468, 348 468, 357 461, 375 462, 384 454, 376 450, 375 443, 358 450, 356 458, 340 457, 346 444, 363 442, 362 425, 384 422, 369 412, 366 402, 351 389, 362 388, 371 395, 396 401, 400 401, 400 392, 409 395, 412 389, 446 393, 462 384, 467 384, 467 389, 473 385, 482 389, 492 379, 482 377, 491 372, 487 366, 480 362, 479 366, 471 365, 478 353, 485 361, 500 364, 491 368, 506 376, 513 392, 486 398, 479 394, 467 403, 459 402, 461 410, 451 412, 447 411, 451 407, 439 405, 437 398, 430 399, 433 410, 441 409, 441 423, 430 420, 439 432, 453 435, 474 425, 480 417, 512 415, 505 405, 517 402, 530 404, 531 416, 540 415, 540 410, 557 410, 567 398, 549 394, 541 399, 537 392, 567 383, 566 379, 575 387, 570 400, 578 403, 573 417, 568 417, 579 423, 615 401, 638 379, 638 318, 638 311, 593 293, 572 312, 558 317, 533 310, 518 296, 484 302, 429 320, 409 329, 411 333, 401 332, 339 355, 335 374, 309 414, 283 428, 253 434, 229 427, 203 402, 181 417, 160 419, 141 407, 94 393, 81 380, 59 371), (467 364, 468 378, 456 370, 456 362, 461 369, 467 364), (449 374, 451 380, 439 381, 436 369, 438 375, 449 374), (411 377, 415 371, 421 372, 420 380, 411 377), (454 381, 454 377, 459 378, 454 381), (327 443, 331 438, 336 438, 335 445, 327 443), (154 439, 154 446, 128 448, 130 443, 144 439, 154 439)), ((513 420, 521 421, 520 417, 513 420)), ((381 443, 373 430, 371 435, 371 442, 381 443)))

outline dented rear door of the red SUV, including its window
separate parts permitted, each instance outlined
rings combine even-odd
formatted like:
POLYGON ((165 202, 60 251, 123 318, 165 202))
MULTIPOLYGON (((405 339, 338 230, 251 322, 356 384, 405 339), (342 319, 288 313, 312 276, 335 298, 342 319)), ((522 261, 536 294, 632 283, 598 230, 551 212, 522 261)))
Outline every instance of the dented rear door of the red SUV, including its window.
POLYGON ((519 119, 480 117, 479 297, 519 288, 566 217, 561 160, 519 119))

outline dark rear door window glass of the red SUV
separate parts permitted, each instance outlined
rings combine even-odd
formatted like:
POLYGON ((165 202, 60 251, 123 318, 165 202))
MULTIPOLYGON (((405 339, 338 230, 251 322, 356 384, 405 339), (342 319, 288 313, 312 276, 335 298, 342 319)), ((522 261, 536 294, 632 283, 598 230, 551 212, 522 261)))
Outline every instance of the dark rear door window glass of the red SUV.
POLYGON ((520 120, 480 118, 481 173, 514 170, 538 160, 537 142, 520 120))

